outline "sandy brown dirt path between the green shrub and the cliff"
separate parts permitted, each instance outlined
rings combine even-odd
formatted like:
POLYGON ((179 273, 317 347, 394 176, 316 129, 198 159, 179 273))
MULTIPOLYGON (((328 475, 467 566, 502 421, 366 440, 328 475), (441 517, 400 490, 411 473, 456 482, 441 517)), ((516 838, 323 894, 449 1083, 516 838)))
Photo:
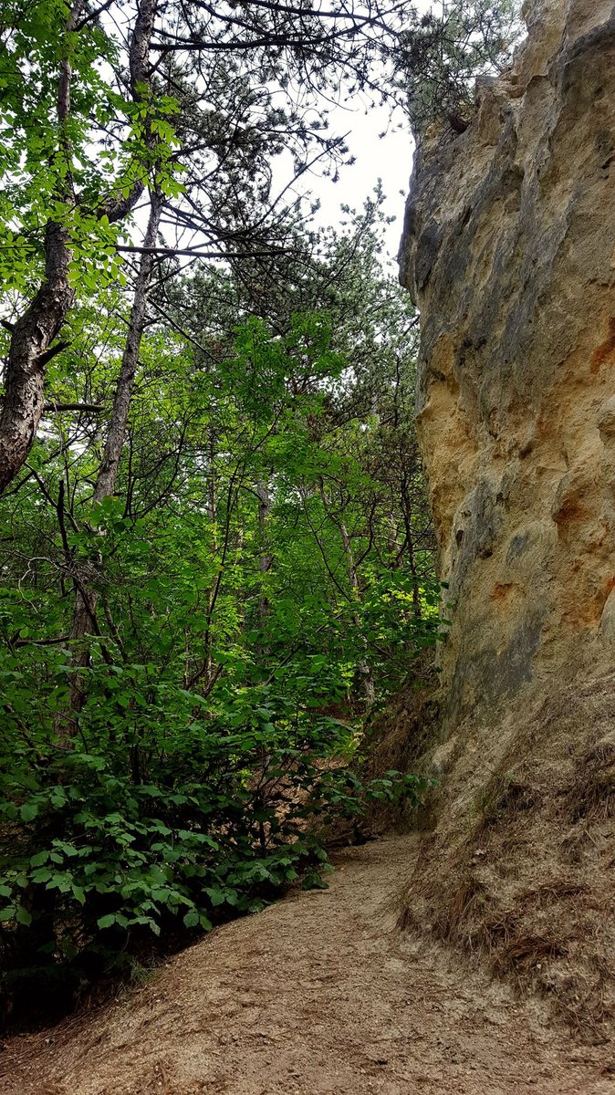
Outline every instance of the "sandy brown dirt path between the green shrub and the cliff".
POLYGON ((413 855, 407 837, 348 849, 328 890, 218 930, 103 1014, 12 1040, 1 1095, 613 1095, 615 1047, 577 1045, 394 930, 413 855))

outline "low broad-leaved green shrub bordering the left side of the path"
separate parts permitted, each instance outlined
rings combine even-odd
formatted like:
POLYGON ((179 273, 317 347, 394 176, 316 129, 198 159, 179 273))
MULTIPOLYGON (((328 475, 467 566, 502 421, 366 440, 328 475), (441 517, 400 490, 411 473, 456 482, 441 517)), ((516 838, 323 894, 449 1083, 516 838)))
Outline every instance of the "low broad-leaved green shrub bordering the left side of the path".
POLYGON ((423 789, 396 772, 361 784, 355 729, 322 714, 335 695, 325 659, 297 658, 271 682, 235 679, 216 710, 153 666, 84 670, 67 750, 55 725, 70 667, 57 648, 44 657, 36 700, 18 659, 1 670, 0 948, 18 1004, 34 983, 68 998, 153 937, 170 945, 255 911, 302 873, 318 885, 318 820, 423 789))

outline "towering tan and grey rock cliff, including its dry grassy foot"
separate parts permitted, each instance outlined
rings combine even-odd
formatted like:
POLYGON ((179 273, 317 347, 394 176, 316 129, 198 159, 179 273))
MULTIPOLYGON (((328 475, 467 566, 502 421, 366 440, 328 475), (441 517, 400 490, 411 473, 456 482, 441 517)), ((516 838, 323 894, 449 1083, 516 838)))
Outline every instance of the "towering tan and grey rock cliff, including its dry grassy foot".
POLYGON ((615 7, 525 9, 469 128, 423 139, 402 245, 452 621, 409 907, 587 1026, 615 1004, 615 7))

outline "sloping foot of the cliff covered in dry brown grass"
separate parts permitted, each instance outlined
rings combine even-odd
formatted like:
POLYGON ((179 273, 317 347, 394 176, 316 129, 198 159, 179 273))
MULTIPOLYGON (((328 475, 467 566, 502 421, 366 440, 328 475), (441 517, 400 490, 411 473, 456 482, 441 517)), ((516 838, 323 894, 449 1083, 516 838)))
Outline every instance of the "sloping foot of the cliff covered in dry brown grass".
POLYGON ((590 1041, 615 1033, 615 676, 570 683, 448 746, 404 925, 537 992, 590 1041), (455 759, 456 756, 456 759, 455 759))

